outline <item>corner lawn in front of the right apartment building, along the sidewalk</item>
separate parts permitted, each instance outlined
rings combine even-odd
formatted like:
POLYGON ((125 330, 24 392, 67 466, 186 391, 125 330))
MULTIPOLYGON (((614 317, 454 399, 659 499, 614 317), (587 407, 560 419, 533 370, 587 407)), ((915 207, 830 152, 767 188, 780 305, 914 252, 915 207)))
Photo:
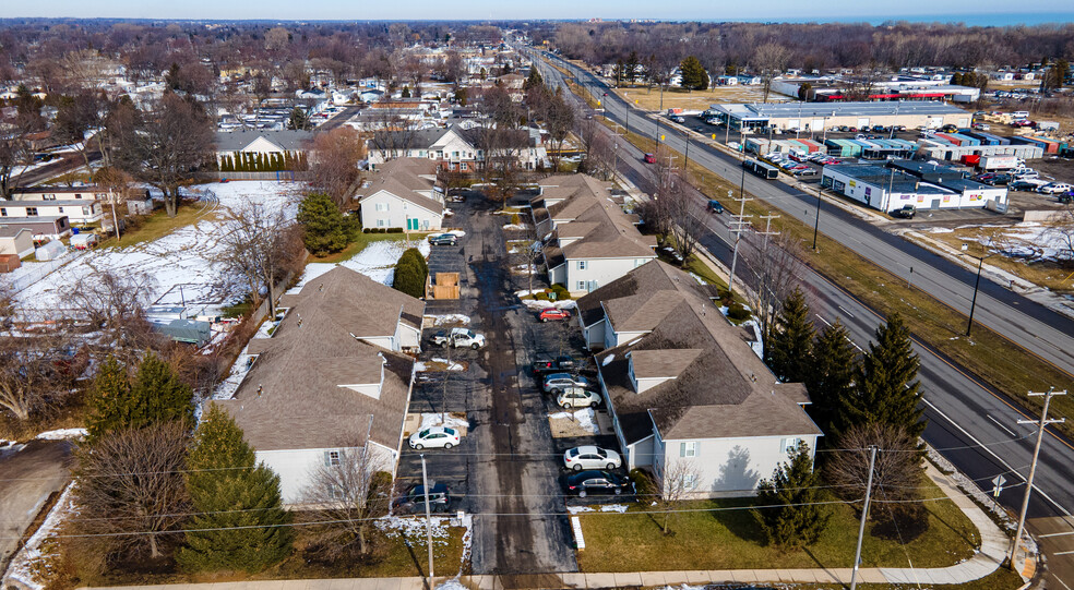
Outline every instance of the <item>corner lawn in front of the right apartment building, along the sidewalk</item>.
MULTIPOLYGON (((942 497, 929 482, 924 497, 942 497)), ((823 499, 832 499, 823 498, 823 499)), ((684 503, 683 508, 741 508, 750 498, 684 503)), ((867 526, 862 567, 944 567, 974 555, 980 545, 977 529, 948 499, 923 503, 929 529, 902 544, 873 537, 867 526)), ((882 509, 874 504, 873 509, 882 509)), ((672 534, 660 531, 661 515, 637 514, 648 506, 633 505, 625 515, 581 515, 585 549, 577 552, 582 571, 646 571, 672 569, 798 569, 850 567, 858 534, 851 506, 826 506, 832 519, 820 541, 800 551, 765 546, 763 534, 748 509, 694 511, 672 515, 672 534)))

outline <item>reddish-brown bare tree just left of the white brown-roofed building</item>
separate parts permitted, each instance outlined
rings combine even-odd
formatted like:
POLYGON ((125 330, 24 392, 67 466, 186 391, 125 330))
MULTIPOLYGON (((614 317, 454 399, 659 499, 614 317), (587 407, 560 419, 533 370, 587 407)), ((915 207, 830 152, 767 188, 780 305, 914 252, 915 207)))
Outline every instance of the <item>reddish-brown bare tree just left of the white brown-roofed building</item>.
POLYGON ((365 157, 366 143, 353 128, 319 133, 310 154, 310 185, 331 196, 341 209, 349 209, 350 195, 361 179, 358 162, 365 157))

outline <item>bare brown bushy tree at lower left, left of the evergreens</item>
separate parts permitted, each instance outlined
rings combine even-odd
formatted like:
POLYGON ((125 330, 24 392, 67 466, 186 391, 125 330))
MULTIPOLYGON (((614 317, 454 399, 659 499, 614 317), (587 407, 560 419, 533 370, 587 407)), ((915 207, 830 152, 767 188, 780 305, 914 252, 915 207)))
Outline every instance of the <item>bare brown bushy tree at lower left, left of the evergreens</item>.
POLYGON ((162 555, 162 541, 175 538, 189 511, 187 441, 183 424, 166 422, 110 433, 75 451, 75 526, 109 535, 96 538, 97 551, 162 555))

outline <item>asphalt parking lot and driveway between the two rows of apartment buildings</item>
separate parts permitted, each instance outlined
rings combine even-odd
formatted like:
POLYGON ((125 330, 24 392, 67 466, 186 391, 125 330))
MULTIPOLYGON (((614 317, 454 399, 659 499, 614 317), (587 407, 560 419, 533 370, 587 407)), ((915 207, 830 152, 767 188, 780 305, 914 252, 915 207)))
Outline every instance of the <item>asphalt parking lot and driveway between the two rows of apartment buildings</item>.
MULTIPOLYGON (((573 317, 539 322, 539 310, 515 297, 516 290, 528 288, 529 278, 511 272, 526 261, 520 252, 509 253, 506 242, 524 237, 503 229, 510 215, 477 193, 450 206, 456 212, 450 217, 453 228, 465 234, 454 246, 432 246, 429 272, 460 273, 460 299, 427 302, 419 361, 431 370, 417 373, 407 432, 420 423, 417 414, 428 421, 429 414, 450 412, 465 417, 466 435, 451 449, 419 451, 404 443, 399 485, 420 482, 423 454, 430 482, 449 486, 450 509, 475 515, 476 574, 576 570, 564 505, 625 497, 564 498, 563 454, 580 445, 618 448, 602 407, 592 419, 588 410, 557 407, 554 397, 542 393, 530 363, 561 354, 587 359, 581 332, 573 317), (453 326, 484 335, 486 346, 449 350, 431 342, 437 332, 453 326), (444 361, 456 370, 442 370, 449 368, 444 361)), ((523 220, 527 216, 521 214, 523 220)), ((545 286, 545 279, 535 278, 538 284, 545 286)), ((592 365, 582 374, 595 377, 592 365)))

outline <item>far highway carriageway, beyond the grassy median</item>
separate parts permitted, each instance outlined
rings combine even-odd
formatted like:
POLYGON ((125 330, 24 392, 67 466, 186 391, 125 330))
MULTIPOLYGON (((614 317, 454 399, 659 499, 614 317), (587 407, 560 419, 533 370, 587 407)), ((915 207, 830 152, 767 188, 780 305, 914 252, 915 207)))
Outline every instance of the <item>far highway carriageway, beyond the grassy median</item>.
MULTIPOLYGON (((558 58, 553 58, 558 59, 558 58)), ((560 61, 600 96, 608 92, 607 86, 593 74, 582 71, 574 64, 560 61)), ((552 80, 559 80, 551 68, 545 68, 552 80)), ((546 76, 547 79, 547 76, 546 76)), ((606 116, 624 124, 626 103, 608 92, 602 97, 606 116)), ((643 111, 632 109, 630 130, 655 137, 657 125, 665 142, 679 153, 685 150, 685 140, 679 130, 669 130, 667 120, 657 122, 643 116, 643 111)), ((720 177, 738 184, 743 178, 739 160, 715 147, 691 141, 690 158, 720 177)), ((745 190, 783 209, 806 224, 813 224, 816 215, 816 193, 814 189, 803 190, 798 183, 766 181, 752 174, 744 176, 745 190)), ((908 276, 914 269, 914 285, 932 293, 940 301, 955 310, 968 313, 974 297, 976 273, 936 255, 897 236, 878 231, 867 221, 836 207, 823 208, 821 231, 878 266, 898 277, 908 276)), ((1074 320, 1057 313, 1040 303, 1010 291, 991 280, 981 280, 977 296, 975 322, 989 326, 997 333, 1017 342, 1033 353, 1046 359, 1067 372, 1074 378, 1074 320)), ((1063 387, 1065 384, 1055 384, 1063 387)))

